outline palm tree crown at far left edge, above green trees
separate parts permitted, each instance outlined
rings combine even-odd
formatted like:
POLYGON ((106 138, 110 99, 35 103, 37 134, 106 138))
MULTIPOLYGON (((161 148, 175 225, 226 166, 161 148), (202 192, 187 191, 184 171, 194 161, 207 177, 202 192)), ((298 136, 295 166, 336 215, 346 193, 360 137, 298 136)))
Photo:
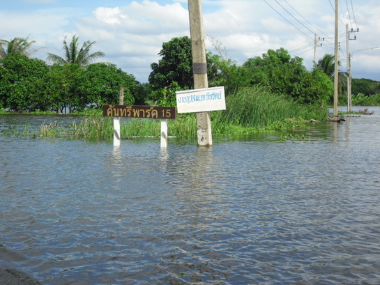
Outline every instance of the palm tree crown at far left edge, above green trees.
POLYGON ((26 38, 14 38, 13 40, 0 40, 0 59, 5 59, 10 54, 24 54, 30 57, 43 47, 38 49, 31 49, 31 45, 36 43, 35 40, 28 41, 29 36, 26 38))

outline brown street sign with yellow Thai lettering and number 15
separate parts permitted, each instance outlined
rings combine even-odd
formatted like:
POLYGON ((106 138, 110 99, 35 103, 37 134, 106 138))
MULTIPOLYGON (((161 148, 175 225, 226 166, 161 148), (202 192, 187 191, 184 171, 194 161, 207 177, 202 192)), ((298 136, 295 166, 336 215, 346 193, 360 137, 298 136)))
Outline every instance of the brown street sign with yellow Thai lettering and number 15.
POLYGON ((176 107, 103 105, 103 116, 175 119, 176 107))

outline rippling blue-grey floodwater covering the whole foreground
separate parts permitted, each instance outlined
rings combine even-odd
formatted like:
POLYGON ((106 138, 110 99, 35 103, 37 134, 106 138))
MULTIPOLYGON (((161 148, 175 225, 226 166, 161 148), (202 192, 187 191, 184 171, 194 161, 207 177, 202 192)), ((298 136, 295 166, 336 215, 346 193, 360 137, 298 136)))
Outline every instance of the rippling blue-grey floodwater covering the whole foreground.
POLYGON ((211 148, 0 135, 0 283, 380 284, 373 109, 211 148))

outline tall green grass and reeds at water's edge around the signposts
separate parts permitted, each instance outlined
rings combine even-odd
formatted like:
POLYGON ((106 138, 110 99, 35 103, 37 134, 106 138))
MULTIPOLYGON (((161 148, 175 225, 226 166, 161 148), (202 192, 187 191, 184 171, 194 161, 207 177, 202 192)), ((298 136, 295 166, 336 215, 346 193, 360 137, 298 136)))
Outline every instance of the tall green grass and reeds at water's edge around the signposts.
MULTIPOLYGON (((271 130, 304 129, 301 123, 293 122, 321 119, 327 114, 325 110, 312 110, 259 87, 243 88, 227 96, 226 107, 225 111, 211 113, 213 137, 241 137, 271 130)), ((159 120, 128 118, 121 124, 121 138, 160 137, 160 128, 159 120)), ((101 111, 91 111, 79 124, 73 122, 68 128, 63 128, 59 123, 41 125, 37 135, 100 141, 112 139, 113 132, 113 118, 103 117, 101 111)), ((178 114, 176 120, 169 120, 168 135, 178 139, 196 139, 196 115, 178 114)))

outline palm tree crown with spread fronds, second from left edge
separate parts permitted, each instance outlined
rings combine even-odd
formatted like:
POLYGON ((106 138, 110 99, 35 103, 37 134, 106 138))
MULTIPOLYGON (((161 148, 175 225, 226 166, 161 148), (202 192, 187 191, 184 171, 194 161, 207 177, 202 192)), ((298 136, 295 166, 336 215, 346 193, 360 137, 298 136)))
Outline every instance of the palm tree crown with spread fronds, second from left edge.
POLYGON ((105 56, 104 52, 94 52, 93 54, 89 54, 91 47, 96 42, 90 42, 87 40, 83 43, 81 49, 78 48, 78 40, 79 37, 77 35, 73 36, 73 40, 68 44, 66 41, 66 37, 63 40, 63 50, 65 51, 65 58, 58 56, 56 54, 48 53, 47 61, 52 61, 54 63, 77 63, 79 66, 86 66, 91 61, 98 59, 101 56, 105 56))

